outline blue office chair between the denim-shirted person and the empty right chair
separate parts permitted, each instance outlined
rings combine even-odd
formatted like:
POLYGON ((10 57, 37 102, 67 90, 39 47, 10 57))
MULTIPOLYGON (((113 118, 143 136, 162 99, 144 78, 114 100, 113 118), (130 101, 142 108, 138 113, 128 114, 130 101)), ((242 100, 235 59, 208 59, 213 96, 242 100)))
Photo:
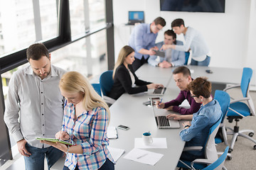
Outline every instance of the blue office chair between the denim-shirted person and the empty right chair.
MULTIPOLYGON (((228 146, 227 130, 225 128, 224 120, 228 113, 228 108, 230 106, 230 96, 225 91, 216 90, 214 98, 220 104, 220 108, 223 113, 223 116, 220 122, 220 128, 217 132, 217 135, 215 136, 215 144, 225 142, 225 145, 228 146)), ((223 152, 218 152, 218 154, 223 154, 223 152)), ((231 159, 232 159, 231 154, 228 153, 228 160, 231 160, 231 159)))

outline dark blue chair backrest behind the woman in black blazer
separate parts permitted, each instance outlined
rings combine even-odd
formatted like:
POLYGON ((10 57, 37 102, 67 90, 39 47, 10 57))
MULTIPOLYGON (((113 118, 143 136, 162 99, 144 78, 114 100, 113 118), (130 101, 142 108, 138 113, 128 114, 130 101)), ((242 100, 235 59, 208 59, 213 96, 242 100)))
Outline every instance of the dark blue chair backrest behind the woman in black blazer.
POLYGON ((108 70, 100 75, 100 87, 102 89, 102 94, 107 96, 107 94, 111 91, 113 86, 113 70, 108 70))

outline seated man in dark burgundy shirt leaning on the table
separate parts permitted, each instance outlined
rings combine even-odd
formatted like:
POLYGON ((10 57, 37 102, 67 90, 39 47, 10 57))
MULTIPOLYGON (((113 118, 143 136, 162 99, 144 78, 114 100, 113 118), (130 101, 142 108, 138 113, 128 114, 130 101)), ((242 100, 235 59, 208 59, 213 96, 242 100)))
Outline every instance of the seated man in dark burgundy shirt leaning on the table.
POLYGON ((181 89, 181 92, 178 94, 178 97, 172 101, 166 103, 160 103, 156 101, 157 108, 166 108, 167 110, 175 111, 177 113, 181 113, 181 115, 190 115, 196 113, 201 104, 196 103, 191 96, 191 92, 187 89, 188 84, 192 81, 191 72, 187 67, 181 66, 174 69, 173 72, 174 81, 176 82, 176 86, 181 89), (183 108, 179 105, 187 100, 190 108, 183 108))

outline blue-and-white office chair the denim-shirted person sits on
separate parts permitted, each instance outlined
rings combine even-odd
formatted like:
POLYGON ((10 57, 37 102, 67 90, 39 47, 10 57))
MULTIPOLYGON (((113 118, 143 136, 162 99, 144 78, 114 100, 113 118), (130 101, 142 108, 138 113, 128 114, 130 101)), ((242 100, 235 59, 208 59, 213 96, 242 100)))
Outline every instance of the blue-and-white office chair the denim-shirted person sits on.
MULTIPOLYGON (((208 138, 206 140, 206 144, 204 146, 198 147, 184 147, 183 152, 191 151, 191 150, 201 150, 204 149, 206 159, 200 159, 204 164, 193 164, 195 169, 204 169, 208 164, 213 164, 218 159, 217 149, 215 147, 215 135, 218 132, 220 122, 222 118, 220 118, 213 126, 210 128, 208 133, 208 138)), ((195 160, 194 160, 195 161, 195 160)), ((191 162, 179 160, 177 167, 191 169, 191 162)))

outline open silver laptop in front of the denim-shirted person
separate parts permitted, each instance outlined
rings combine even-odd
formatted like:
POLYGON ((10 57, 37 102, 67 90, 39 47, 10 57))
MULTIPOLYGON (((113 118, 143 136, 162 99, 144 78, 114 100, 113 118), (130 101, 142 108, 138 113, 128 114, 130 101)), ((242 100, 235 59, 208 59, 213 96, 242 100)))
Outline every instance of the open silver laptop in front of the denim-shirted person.
POLYGON ((153 101, 152 98, 150 98, 151 102, 151 108, 154 114, 154 118, 156 120, 156 126, 159 129, 178 129, 180 128, 180 124, 178 120, 170 120, 166 118, 166 115, 156 115, 154 111, 154 106, 152 105, 153 101))

